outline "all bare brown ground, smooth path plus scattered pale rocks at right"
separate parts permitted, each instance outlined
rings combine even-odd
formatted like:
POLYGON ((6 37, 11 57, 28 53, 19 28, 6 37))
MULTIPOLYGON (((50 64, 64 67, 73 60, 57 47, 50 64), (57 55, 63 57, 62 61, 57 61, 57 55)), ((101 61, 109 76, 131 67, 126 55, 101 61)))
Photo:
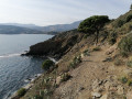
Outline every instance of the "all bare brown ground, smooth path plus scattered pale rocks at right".
MULTIPOLYGON (((114 66, 106 52, 91 52, 90 56, 82 57, 82 63, 69 72, 72 78, 62 82, 55 90, 55 99, 132 99, 132 90, 118 80, 124 66, 114 66)), ((129 69, 130 70, 130 69, 129 69)), ((131 72, 131 70, 130 70, 131 72)))

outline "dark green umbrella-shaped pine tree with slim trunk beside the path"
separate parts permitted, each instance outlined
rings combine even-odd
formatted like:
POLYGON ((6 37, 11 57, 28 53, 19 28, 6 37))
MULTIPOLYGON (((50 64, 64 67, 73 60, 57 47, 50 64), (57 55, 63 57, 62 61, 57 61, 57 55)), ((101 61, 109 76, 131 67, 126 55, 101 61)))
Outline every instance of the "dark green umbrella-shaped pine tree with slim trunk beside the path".
POLYGON ((84 20, 79 24, 78 31, 89 34, 96 33, 97 43, 98 43, 99 31, 103 28, 105 23, 109 21, 110 20, 107 15, 94 15, 84 20))

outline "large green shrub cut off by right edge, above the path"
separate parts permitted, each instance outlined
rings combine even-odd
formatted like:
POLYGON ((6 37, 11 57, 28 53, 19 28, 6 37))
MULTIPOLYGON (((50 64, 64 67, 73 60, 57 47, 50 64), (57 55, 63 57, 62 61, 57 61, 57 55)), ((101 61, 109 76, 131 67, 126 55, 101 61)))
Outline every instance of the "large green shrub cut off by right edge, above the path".
POLYGON ((124 36, 119 43, 120 53, 128 56, 132 53, 132 33, 124 36))

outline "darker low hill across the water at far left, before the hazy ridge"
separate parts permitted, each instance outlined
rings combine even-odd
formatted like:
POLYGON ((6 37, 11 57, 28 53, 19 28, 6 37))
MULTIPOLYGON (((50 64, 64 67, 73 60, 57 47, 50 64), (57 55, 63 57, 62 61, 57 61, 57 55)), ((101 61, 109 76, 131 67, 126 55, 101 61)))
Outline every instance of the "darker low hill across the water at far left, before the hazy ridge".
POLYGON ((42 34, 44 32, 14 25, 0 25, 0 34, 42 34))

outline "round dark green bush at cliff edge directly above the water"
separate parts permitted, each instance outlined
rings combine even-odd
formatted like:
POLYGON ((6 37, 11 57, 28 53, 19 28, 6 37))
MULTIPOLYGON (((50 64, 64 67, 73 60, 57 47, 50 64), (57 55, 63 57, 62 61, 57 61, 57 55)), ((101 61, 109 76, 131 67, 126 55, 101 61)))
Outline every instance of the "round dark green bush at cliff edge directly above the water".
POLYGON ((52 67, 54 67, 55 63, 53 61, 46 59, 44 61, 44 63, 42 64, 42 68, 44 70, 50 70, 52 67))

